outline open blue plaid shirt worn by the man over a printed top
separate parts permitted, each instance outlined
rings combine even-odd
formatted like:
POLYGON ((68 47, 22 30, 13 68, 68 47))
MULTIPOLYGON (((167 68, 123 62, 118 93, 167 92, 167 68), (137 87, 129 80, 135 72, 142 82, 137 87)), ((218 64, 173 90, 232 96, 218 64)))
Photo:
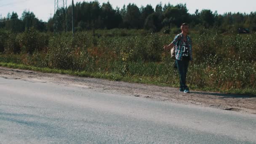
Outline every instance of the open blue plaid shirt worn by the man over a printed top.
MULTIPOLYGON (((179 35, 176 35, 174 40, 173 40, 173 44, 175 45, 175 57, 178 60, 182 60, 182 44, 184 41, 184 35, 182 33, 180 33, 179 35)), ((187 35, 187 42, 189 44, 189 60, 192 61, 192 40, 191 38, 187 35)))

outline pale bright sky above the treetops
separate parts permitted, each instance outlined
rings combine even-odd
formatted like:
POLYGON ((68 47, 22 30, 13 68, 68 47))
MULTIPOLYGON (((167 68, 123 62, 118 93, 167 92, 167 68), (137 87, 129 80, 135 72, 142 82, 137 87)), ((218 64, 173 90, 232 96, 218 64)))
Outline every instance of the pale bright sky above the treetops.
MULTIPOLYGON (((74 0, 74 3, 84 0, 74 0)), ((88 1, 88 0, 85 0, 88 1)), ((90 0, 89 0, 90 1, 90 0)), ((99 3, 109 3, 112 7, 120 7, 129 3, 135 3, 138 7, 141 5, 146 6, 150 4, 155 6, 162 2, 171 3, 176 5, 179 3, 187 4, 189 13, 195 13, 196 9, 201 11, 202 9, 210 9, 213 12, 217 11, 219 14, 225 12, 242 12, 251 13, 256 12, 256 0, 98 0, 99 3)), ((72 0, 67 0, 68 5, 72 3, 72 0)), ((38 19, 48 21, 51 15, 54 13, 54 0, 0 0, 0 17, 7 16, 8 12, 17 12, 19 17, 24 10, 29 10, 35 13, 38 19)))

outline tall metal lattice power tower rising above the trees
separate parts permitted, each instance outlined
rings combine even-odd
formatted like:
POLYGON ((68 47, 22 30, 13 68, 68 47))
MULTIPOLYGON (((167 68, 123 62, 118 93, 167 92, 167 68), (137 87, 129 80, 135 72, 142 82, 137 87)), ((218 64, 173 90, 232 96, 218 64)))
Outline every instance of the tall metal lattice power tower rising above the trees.
POLYGON ((54 0, 54 32, 69 29, 69 17, 67 13, 67 0, 54 0))

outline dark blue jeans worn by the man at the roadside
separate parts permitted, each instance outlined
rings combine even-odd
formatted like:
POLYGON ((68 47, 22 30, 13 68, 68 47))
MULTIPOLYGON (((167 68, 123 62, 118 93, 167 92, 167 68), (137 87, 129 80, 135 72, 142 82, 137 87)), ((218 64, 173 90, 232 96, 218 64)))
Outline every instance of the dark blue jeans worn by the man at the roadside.
POLYGON ((189 67, 189 60, 184 59, 180 61, 176 59, 176 64, 179 72, 180 88, 187 88, 186 78, 187 78, 187 69, 189 67))

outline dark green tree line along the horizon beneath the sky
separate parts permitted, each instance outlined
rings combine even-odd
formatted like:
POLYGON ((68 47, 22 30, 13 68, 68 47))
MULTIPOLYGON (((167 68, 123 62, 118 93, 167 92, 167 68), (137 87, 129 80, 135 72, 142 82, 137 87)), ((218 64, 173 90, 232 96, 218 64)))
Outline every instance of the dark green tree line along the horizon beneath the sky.
MULTIPOLYGON (((64 18, 59 10, 58 18, 64 18)), ((188 13, 186 4, 162 5, 155 8, 152 5, 141 6, 133 3, 123 5, 122 8, 113 8, 112 5, 98 1, 78 2, 74 7, 74 27, 76 31, 87 29, 147 29, 159 32, 163 29, 177 29, 180 24, 186 22, 195 29, 219 29, 221 32, 235 31, 238 28, 248 28, 256 31, 256 12, 251 13, 224 13, 218 14, 208 9, 196 10, 188 13)), ((68 30, 71 30, 72 6, 67 8, 68 30)), ((6 17, 0 17, 0 28, 10 29, 13 32, 23 32, 26 28, 34 27, 40 32, 53 32, 53 15, 47 22, 39 20, 33 12, 24 11, 19 18, 16 12, 8 13, 6 17)), ((64 30, 64 24, 59 23, 59 31, 64 30)))

